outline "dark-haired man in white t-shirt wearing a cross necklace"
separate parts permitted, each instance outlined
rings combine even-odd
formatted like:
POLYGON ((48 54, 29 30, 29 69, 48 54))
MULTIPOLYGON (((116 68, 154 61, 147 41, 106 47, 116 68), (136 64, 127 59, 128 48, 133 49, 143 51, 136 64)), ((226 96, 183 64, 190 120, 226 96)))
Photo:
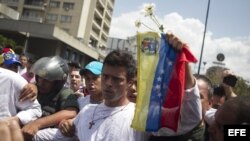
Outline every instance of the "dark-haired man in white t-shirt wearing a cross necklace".
POLYGON ((101 90, 104 102, 86 105, 74 125, 80 141, 140 141, 130 127, 135 104, 127 98, 136 75, 136 62, 127 52, 112 51, 103 63, 101 90))

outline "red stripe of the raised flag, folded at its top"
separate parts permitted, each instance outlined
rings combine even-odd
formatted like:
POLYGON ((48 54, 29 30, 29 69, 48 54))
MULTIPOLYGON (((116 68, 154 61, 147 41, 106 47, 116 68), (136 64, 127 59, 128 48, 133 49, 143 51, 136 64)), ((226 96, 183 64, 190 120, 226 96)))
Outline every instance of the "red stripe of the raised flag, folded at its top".
POLYGON ((161 127, 168 127, 175 132, 178 129, 180 108, 184 95, 185 72, 187 62, 196 62, 192 53, 184 47, 178 54, 174 70, 167 89, 167 95, 162 106, 161 127))

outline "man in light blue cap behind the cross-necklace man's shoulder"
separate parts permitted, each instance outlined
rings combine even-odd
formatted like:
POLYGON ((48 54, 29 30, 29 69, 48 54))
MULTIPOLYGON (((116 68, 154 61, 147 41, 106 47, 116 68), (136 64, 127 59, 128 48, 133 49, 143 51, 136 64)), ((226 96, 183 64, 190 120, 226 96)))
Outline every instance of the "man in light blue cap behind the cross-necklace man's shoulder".
MULTIPOLYGON (((81 69, 78 73, 85 78, 86 90, 89 95, 81 96, 78 98, 79 109, 82 109, 88 104, 97 105, 102 102, 103 97, 101 94, 101 72, 103 64, 98 61, 92 61, 88 63, 84 69, 81 69)), ((72 83, 71 83, 72 84, 72 83)), ((74 119, 64 120, 60 122, 60 132, 55 137, 55 140, 69 141, 74 140, 75 134, 73 127, 74 119), (62 135, 62 134, 64 135, 62 135), (65 137, 67 136, 67 137, 65 137)))

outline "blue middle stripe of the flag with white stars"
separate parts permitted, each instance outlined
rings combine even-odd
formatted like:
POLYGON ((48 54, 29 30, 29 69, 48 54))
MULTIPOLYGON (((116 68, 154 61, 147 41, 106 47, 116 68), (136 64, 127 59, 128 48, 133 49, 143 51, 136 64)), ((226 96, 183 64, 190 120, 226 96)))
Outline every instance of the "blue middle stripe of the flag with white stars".
POLYGON ((162 103, 166 98, 167 86, 171 79, 176 58, 176 51, 170 47, 166 35, 162 34, 159 60, 150 95, 146 131, 157 131, 160 128, 162 103))

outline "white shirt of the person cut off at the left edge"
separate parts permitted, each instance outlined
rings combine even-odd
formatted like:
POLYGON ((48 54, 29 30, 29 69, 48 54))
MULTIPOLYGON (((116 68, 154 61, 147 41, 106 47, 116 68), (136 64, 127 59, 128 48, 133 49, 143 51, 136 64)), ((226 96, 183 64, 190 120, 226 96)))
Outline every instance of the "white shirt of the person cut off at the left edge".
POLYGON ((28 84, 22 76, 0 67, 0 78, 0 120, 14 119, 25 125, 42 115, 37 100, 19 100, 21 91, 28 84))

